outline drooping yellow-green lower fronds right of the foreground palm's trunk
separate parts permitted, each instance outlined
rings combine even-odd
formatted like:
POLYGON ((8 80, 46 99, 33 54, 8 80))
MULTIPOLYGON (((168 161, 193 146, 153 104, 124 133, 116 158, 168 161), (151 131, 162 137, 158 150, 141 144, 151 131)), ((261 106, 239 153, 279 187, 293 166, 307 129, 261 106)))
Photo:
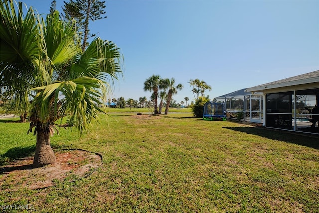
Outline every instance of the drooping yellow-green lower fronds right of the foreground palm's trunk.
POLYGON ((51 126, 68 115, 70 122, 81 132, 88 129, 97 113, 102 112, 99 105, 105 93, 103 82, 89 77, 57 82, 48 86, 33 88, 41 90, 32 102, 32 117, 41 126, 51 126))

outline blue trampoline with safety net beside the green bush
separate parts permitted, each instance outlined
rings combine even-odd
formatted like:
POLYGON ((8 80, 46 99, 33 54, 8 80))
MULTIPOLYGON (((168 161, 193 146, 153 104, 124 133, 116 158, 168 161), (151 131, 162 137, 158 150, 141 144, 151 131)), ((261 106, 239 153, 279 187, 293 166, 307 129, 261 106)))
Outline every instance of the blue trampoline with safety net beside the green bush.
POLYGON ((208 101, 204 106, 204 120, 212 121, 214 119, 226 120, 226 106, 225 103, 216 103, 208 101))

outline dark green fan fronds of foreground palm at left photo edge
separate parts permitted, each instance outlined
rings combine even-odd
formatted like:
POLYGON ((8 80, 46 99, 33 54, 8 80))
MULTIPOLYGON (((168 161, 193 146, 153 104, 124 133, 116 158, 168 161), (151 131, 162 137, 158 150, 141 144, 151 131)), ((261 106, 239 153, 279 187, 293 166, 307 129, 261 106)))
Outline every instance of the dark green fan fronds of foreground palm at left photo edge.
POLYGON ((0 85, 1 99, 10 102, 10 108, 26 111, 29 94, 26 91, 35 83, 36 64, 41 60, 41 40, 38 34, 38 21, 30 8, 22 13, 22 3, 0 2, 0 85), (17 9, 17 10, 16 10, 17 9))

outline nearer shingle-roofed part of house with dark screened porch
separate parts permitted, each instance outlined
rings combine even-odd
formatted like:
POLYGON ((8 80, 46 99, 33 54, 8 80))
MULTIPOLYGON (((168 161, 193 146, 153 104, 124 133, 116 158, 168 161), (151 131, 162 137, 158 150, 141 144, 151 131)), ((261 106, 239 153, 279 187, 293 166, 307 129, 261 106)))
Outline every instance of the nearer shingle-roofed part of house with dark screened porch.
POLYGON ((319 70, 245 91, 264 95, 266 127, 319 134, 319 70))

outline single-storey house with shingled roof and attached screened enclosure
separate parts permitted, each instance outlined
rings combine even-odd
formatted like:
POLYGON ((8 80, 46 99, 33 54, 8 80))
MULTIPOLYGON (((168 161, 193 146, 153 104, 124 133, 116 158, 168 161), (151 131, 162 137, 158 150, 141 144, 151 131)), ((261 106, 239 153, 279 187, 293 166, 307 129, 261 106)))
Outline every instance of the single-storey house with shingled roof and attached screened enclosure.
POLYGON ((319 134, 319 70, 237 90, 216 98, 226 103, 230 115, 244 112, 244 119, 263 126, 319 134))

